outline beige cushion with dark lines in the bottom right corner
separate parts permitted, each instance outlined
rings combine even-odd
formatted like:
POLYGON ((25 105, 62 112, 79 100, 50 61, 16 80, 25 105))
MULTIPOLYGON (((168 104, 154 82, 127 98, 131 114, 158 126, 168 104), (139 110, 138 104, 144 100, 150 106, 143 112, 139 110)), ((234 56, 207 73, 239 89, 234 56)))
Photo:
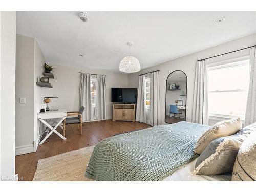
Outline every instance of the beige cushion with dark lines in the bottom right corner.
POLYGON ((256 131, 242 143, 233 167, 232 181, 256 179, 256 131))

